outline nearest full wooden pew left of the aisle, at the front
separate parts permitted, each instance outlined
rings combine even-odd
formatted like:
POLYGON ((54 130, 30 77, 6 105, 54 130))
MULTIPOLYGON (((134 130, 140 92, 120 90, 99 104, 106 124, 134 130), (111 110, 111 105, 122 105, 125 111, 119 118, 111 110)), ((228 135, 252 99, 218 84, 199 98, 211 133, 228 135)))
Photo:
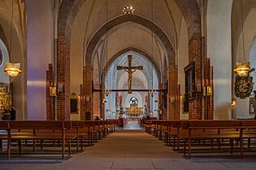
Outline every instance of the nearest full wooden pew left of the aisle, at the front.
MULTIPOLYGON (((66 142, 68 143, 68 153, 71 155, 71 141, 77 138, 74 133, 67 134, 67 130, 70 130, 71 127, 64 121, 10 121, 9 124, 12 131, 11 141, 18 141, 20 154, 21 140, 59 140, 62 142, 62 158, 64 159, 66 142), (20 134, 17 130, 21 130, 21 133, 22 130, 26 130, 26 134, 20 134), (31 130, 30 133, 29 130, 31 130)), ((7 148, 11 153, 11 142, 8 142, 7 148)))

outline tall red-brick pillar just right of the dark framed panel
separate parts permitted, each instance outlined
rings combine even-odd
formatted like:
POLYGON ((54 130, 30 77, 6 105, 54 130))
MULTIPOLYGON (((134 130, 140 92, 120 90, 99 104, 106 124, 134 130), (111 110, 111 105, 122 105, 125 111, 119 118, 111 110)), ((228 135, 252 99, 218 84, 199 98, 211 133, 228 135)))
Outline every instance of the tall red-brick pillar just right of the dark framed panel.
POLYGON ((189 40, 189 63, 195 62, 195 99, 189 100, 189 119, 202 119, 202 37, 194 36, 189 40))

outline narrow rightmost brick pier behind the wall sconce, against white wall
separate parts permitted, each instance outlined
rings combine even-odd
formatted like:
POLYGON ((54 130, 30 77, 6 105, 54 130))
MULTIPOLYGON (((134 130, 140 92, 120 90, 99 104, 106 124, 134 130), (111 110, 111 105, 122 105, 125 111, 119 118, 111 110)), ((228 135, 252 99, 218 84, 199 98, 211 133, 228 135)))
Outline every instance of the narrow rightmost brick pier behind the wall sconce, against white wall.
POLYGON ((213 67, 210 66, 210 58, 206 58, 205 62, 205 85, 211 87, 211 96, 204 96, 205 119, 212 120, 214 118, 214 96, 213 96, 213 67))

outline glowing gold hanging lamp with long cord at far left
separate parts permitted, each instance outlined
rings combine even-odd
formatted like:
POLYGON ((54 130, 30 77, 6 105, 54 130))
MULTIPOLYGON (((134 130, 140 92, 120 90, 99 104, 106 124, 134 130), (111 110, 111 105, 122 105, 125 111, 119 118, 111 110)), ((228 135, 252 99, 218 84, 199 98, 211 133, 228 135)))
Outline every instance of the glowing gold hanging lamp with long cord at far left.
MULTIPOLYGON (((11 47, 10 47, 10 56, 11 56, 11 48, 12 48, 12 25, 13 25, 13 0, 11 0, 11 47)), ((11 63, 7 62, 4 71, 7 72, 11 77, 15 77, 20 74, 22 71, 20 70, 20 63, 11 63)))

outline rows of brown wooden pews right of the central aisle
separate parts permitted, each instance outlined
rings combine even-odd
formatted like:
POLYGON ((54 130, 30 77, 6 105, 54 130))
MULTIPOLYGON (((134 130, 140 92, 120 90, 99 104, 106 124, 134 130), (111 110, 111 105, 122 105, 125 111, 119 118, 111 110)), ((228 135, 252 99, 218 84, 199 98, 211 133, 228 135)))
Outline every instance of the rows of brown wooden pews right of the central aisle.
POLYGON ((208 146, 212 149, 215 145, 219 150, 222 146, 230 147, 232 155, 234 142, 240 144, 240 155, 244 155, 245 142, 249 148, 251 139, 256 138, 256 121, 146 121, 145 131, 172 146, 174 151, 183 147, 184 155, 188 152, 189 157, 192 148, 208 146))

